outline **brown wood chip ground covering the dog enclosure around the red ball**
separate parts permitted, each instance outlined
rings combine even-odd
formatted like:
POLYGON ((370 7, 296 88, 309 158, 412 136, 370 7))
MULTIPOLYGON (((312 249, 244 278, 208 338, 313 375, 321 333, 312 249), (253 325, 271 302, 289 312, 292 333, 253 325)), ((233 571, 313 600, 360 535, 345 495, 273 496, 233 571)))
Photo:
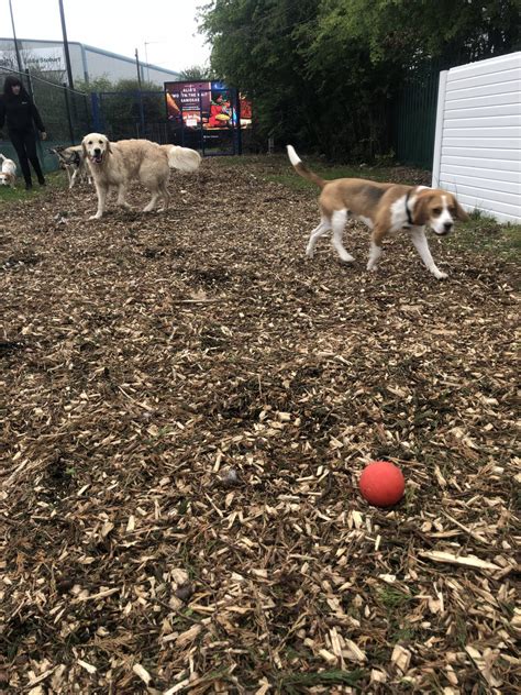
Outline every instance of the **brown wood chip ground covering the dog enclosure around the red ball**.
POLYGON ((308 261, 277 172, 2 210, 3 692, 516 692, 514 266, 399 238, 369 275, 357 224, 308 261))

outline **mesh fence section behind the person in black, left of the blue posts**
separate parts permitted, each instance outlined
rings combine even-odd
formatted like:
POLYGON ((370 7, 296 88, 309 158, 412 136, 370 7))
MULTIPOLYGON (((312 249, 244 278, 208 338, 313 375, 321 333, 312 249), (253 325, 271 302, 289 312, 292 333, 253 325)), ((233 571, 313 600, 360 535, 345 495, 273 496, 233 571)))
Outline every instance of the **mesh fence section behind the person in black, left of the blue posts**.
MULTIPOLYGON (((0 67, 0 92, 3 92, 3 82, 8 75, 20 77, 34 99, 47 132, 47 140, 38 141, 40 159, 44 170, 53 172, 58 168, 58 163, 49 150, 56 145, 79 144, 84 135, 92 130, 90 99, 86 93, 49 82, 29 70, 18 73, 3 67, 0 67)), ((3 136, 4 140, 0 140, 0 152, 18 161, 10 141, 5 140, 5 128, 3 136)))

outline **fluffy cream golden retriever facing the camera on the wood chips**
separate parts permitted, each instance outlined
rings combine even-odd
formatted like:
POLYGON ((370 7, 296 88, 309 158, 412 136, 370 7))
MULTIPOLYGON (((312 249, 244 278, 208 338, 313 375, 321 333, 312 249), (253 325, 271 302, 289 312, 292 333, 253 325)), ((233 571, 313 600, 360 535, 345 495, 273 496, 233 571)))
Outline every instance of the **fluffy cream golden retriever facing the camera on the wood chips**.
POLYGON ((81 146, 98 194, 98 211, 89 218, 91 220, 99 220, 103 216, 111 187, 118 189, 118 205, 130 208, 125 196, 131 181, 135 179, 152 194, 143 212, 154 210, 159 198, 163 198, 162 209, 166 210, 170 200, 167 190, 170 168, 196 172, 201 163, 195 150, 158 145, 149 140, 109 142, 106 135, 90 133, 81 141, 81 146))

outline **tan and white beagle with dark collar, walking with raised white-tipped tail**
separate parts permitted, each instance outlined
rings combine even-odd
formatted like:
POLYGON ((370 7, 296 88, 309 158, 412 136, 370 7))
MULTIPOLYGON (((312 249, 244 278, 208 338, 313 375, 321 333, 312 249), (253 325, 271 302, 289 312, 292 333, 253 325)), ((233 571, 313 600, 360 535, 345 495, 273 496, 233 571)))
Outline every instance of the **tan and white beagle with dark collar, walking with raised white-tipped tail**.
POLYGON ((455 220, 468 216, 453 194, 426 186, 378 184, 362 178, 324 180, 300 159, 291 145, 287 146, 289 161, 297 173, 322 189, 319 198, 321 221, 311 232, 306 253, 313 256, 318 240, 333 232, 333 246, 342 261, 351 263, 353 256, 342 243, 347 219, 364 222, 372 230, 368 271, 375 271, 381 256, 384 238, 402 228, 409 230, 411 241, 426 268, 439 280, 447 277, 434 263, 425 236, 429 225, 439 236, 452 232, 455 220))

